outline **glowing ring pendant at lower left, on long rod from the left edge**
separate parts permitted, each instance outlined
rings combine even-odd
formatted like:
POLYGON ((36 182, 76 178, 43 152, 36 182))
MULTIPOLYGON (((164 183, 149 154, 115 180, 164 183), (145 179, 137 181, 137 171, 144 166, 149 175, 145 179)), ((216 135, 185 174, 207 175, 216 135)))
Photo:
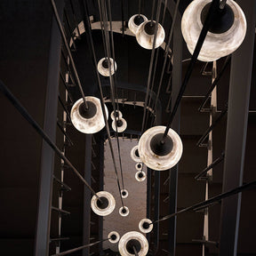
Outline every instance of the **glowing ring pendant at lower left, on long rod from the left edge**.
POLYGON ((114 211, 116 207, 116 201, 114 196, 112 196, 107 191, 100 191, 96 193, 97 196, 101 197, 100 199, 104 199, 103 206, 100 206, 100 200, 97 196, 92 196, 91 207, 92 211, 100 216, 107 216, 111 212, 114 211))

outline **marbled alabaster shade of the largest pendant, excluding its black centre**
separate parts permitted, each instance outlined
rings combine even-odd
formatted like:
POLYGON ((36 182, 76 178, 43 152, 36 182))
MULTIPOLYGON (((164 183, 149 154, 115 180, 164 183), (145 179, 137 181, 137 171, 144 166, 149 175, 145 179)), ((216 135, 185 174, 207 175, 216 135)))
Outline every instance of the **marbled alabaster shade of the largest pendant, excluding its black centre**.
MULTIPOLYGON (((203 28, 201 13, 206 4, 212 0, 194 0, 188 5, 181 20, 181 31, 187 43, 188 51, 193 54, 198 37, 203 28)), ((221 57, 235 52, 244 41, 246 34, 246 20, 244 12, 236 2, 227 1, 228 6, 234 13, 234 22, 224 33, 208 32, 203 47, 197 57, 202 61, 218 60, 221 57)), ((214 18, 213 18, 214 19, 214 18)), ((223 24, 223 23, 222 23, 223 24)))

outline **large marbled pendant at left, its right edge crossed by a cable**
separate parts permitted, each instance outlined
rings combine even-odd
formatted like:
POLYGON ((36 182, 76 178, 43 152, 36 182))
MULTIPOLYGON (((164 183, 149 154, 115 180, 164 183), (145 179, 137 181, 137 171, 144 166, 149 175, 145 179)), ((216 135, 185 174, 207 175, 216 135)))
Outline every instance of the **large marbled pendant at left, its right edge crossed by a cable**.
MULTIPOLYGON (((82 98, 80 100, 76 100, 76 103, 74 104, 70 112, 72 124, 79 132, 83 132, 86 134, 100 132, 100 130, 105 127, 105 121, 101 109, 100 100, 92 96, 86 96, 85 100, 89 103, 89 114, 86 114, 86 110, 84 111, 84 115, 81 112, 81 108, 83 108, 84 106, 84 100, 82 98)), ((105 104, 104 107, 108 118, 108 108, 105 104)))

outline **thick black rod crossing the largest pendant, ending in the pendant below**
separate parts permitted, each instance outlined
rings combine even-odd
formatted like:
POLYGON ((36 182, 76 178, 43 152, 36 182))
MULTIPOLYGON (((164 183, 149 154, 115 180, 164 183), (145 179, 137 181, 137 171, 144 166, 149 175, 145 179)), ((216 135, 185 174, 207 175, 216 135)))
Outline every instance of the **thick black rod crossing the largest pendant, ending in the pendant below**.
POLYGON ((192 71, 193 71, 193 68, 196 64, 196 60, 197 60, 197 57, 199 55, 199 52, 201 51, 201 48, 204 44, 204 39, 205 39, 205 36, 207 35, 207 32, 212 24, 212 20, 213 20, 213 17, 214 17, 214 12, 215 10, 217 10, 219 8, 219 2, 220 0, 212 0, 212 4, 211 4, 211 7, 209 9, 209 12, 207 13, 207 16, 206 16, 206 20, 204 21, 204 26, 201 30, 201 33, 200 33, 200 36, 198 38, 198 41, 196 43, 196 48, 195 48, 195 51, 193 52, 193 55, 192 55, 192 58, 190 60, 190 63, 189 63, 189 66, 188 66, 188 70, 186 72, 186 75, 184 77, 184 80, 183 80, 183 83, 181 84, 181 87, 180 87, 180 92, 177 96, 177 99, 174 103, 174 106, 172 108, 172 114, 168 120, 168 124, 166 125, 166 129, 165 129, 165 132, 164 132, 164 135, 163 135, 163 138, 161 140, 161 143, 164 144, 164 141, 166 140, 166 137, 167 137, 167 133, 169 132, 169 129, 171 127, 171 124, 172 124, 172 120, 179 108, 179 105, 180 105, 180 101, 182 99, 182 96, 185 92, 185 89, 187 87, 187 84, 188 84, 188 81, 189 81, 189 78, 192 74, 192 71))

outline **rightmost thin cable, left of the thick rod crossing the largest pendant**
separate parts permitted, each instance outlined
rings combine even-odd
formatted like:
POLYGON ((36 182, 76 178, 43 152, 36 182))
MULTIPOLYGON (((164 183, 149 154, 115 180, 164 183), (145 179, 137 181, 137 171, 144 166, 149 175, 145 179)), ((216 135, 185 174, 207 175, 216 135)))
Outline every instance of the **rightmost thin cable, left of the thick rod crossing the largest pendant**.
MULTIPOLYGON (((157 90, 157 93, 156 93, 155 106, 154 106, 154 108, 153 108, 153 109, 155 109, 155 111, 154 111, 155 113, 156 113, 156 104, 157 104, 157 101, 158 101, 158 99, 159 99, 160 91, 161 91, 162 84, 163 84, 164 70, 165 70, 165 67, 166 67, 167 59, 168 59, 168 51, 169 51, 169 49, 170 49, 170 45, 171 45, 171 41, 172 41, 173 28, 174 28, 174 24, 175 24, 175 22, 176 22, 177 13, 178 13, 178 10, 179 10, 179 5, 180 5, 180 0, 178 0, 177 3, 176 3, 176 5, 175 5, 173 20, 172 20, 172 27, 171 27, 170 34, 169 34, 168 43, 165 44, 165 49, 164 49, 164 64, 163 64, 163 69, 162 69, 162 73, 161 73, 160 80, 159 80, 158 90, 157 90)), ((153 125, 153 122, 152 122, 152 125, 153 125)))

